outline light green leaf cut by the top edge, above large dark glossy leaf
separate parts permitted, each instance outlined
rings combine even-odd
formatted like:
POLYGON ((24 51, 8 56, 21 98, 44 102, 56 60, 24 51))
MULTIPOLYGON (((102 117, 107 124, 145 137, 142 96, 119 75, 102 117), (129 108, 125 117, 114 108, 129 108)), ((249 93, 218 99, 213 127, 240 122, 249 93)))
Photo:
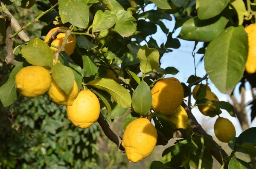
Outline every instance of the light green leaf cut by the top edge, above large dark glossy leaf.
POLYGON ((207 20, 220 14, 230 0, 196 0, 196 11, 200 20, 207 20))

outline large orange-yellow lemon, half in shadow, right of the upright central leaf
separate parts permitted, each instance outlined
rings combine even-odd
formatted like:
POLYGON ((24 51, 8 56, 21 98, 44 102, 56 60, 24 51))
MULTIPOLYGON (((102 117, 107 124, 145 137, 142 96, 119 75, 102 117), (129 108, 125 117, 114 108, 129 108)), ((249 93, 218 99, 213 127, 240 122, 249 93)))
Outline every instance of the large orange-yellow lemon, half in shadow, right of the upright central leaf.
POLYGON ((171 115, 183 101, 183 87, 174 77, 158 81, 151 90, 152 109, 163 115, 171 115))

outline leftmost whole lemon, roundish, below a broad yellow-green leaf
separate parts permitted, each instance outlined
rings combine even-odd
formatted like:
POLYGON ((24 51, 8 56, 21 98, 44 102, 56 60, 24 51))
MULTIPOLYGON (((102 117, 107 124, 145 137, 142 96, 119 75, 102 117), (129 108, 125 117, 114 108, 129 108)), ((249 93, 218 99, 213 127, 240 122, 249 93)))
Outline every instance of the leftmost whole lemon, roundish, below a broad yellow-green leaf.
POLYGON ((15 85, 23 96, 39 97, 51 86, 51 75, 41 66, 27 66, 16 74, 15 85))

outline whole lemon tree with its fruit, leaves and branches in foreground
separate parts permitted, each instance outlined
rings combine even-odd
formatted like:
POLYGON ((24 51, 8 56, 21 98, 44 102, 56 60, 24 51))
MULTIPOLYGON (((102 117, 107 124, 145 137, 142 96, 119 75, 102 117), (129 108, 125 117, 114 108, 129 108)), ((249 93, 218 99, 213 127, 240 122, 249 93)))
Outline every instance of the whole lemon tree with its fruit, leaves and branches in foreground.
MULTIPOLYGON (((19 98, 37 100, 48 95, 45 98, 52 104, 63 105, 66 123, 73 126, 70 132, 74 128, 85 132, 99 125, 105 136, 117 145, 116 149, 125 152, 126 162, 130 163, 147 159, 154 149, 171 139, 182 138, 163 151, 162 161, 148 162, 148 169, 190 166, 211 169, 214 158, 222 169, 250 169, 254 165, 256 128, 248 125, 244 100, 237 103, 233 93, 238 86, 244 99, 247 82, 255 96, 255 3, 250 0, 246 4, 242 0, 38 2, 40 14, 22 27, 9 12, 9 5, 34 8, 34 1, 0 3, 0 35, 7 50, 5 62, 13 65, 9 78, 0 87, 3 107, 17 107, 21 104, 19 98), (149 4, 155 8, 147 10, 145 7, 149 4), (174 28, 169 30, 163 21, 173 19, 174 28), (41 36, 28 37, 26 29, 39 20, 47 23, 41 36), (178 37, 173 38, 180 27, 178 37), (167 38, 161 45, 152 36, 160 29, 167 38), (182 63, 165 69, 161 65, 164 54, 183 49, 180 39, 195 42, 191 55, 195 72, 186 72, 189 75, 186 83, 175 76, 179 73, 176 68, 182 63), (201 61, 207 72, 204 77, 197 76, 195 53, 203 54, 201 61), (208 86, 209 80, 221 93, 230 94, 234 106, 218 99, 208 86), (195 107, 203 115, 218 117, 212 125, 215 140, 198 124, 195 107), (223 110, 230 118, 238 117, 244 130, 239 137, 236 138, 232 122, 223 118, 223 110), (121 135, 109 126, 113 121, 122 122, 121 135), (247 128, 244 128, 246 122, 247 128), (228 143, 233 149, 231 154, 215 141, 228 143), (236 152, 250 155, 252 161, 240 160, 236 152)), ((249 105, 253 120, 255 100, 249 105)), ((56 130, 60 127, 61 124, 56 130)), ((60 149, 54 146, 59 135, 51 134, 55 139, 50 141, 51 149, 41 150, 43 155, 60 149)), ((61 144, 72 144, 65 139, 61 144)), ((85 144, 90 143, 85 141, 85 144)), ((70 152, 64 155, 68 167, 82 167, 76 164, 78 161, 73 163, 75 148, 69 148, 70 152)), ((80 152, 81 148, 76 147, 76 151, 80 152)), ((88 150, 82 153, 84 151, 92 153, 88 150)), ((43 157, 38 154, 37 158, 43 157)), ((15 156, 9 161, 17 159, 15 156)), ((8 165, 6 161, 0 156, 0 166, 19 167, 15 162, 8 165)), ((106 168, 110 168, 111 163, 106 168)), ((64 163, 59 165, 65 167, 64 163)), ((42 160, 40 167, 43 166, 49 166, 49 161, 42 160)))

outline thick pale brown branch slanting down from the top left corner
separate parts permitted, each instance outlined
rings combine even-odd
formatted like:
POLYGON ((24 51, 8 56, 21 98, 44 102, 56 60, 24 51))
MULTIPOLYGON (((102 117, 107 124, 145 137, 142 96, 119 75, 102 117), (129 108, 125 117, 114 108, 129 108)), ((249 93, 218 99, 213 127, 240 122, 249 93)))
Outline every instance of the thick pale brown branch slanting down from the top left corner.
MULTIPOLYGON (((0 3, 1 3, 1 6, 4 7, 4 3, 1 1, 0 1, 0 3)), ((12 14, 9 12, 9 10, 7 8, 5 8, 4 12, 12 16, 12 14)), ((21 28, 20 24, 13 16, 12 16, 12 20, 11 20, 11 26, 15 32, 17 32, 21 28)), ((20 37, 21 40, 23 40, 25 42, 30 40, 24 31, 20 31, 20 33, 18 33, 18 36, 20 37)))

